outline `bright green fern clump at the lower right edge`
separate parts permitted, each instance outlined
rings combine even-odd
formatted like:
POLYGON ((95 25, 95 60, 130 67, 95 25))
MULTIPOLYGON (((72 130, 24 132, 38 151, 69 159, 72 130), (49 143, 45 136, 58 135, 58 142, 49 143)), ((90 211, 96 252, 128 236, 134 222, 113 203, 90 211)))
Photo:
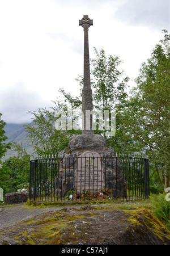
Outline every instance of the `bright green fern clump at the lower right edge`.
POLYGON ((163 194, 152 195, 150 196, 150 200, 154 210, 153 215, 158 217, 170 230, 170 201, 167 201, 163 194))

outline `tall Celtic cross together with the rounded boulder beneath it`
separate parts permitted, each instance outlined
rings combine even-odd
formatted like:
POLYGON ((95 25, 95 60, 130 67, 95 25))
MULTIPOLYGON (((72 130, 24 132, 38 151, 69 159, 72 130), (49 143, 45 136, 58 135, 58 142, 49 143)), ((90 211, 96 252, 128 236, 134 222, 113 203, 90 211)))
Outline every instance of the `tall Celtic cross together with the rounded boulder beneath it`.
POLYGON ((93 110, 92 89, 90 81, 90 56, 88 45, 88 28, 93 25, 93 20, 84 15, 83 19, 79 20, 79 26, 84 28, 84 75, 83 75, 83 90, 82 90, 82 135, 73 136, 70 139, 69 146, 72 151, 80 149, 100 149, 104 150, 106 142, 101 135, 95 135, 92 127, 93 110))

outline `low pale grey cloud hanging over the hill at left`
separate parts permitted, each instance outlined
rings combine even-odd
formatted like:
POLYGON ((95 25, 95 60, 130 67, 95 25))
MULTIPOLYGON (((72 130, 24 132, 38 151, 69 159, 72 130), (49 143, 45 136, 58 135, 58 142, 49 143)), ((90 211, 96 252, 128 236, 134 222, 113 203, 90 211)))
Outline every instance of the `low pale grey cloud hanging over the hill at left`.
POLYGON ((0 112, 6 123, 27 123, 31 120, 28 111, 44 107, 44 100, 33 90, 27 89, 23 82, 1 91, 0 112), (43 105, 42 105, 43 104, 43 105))

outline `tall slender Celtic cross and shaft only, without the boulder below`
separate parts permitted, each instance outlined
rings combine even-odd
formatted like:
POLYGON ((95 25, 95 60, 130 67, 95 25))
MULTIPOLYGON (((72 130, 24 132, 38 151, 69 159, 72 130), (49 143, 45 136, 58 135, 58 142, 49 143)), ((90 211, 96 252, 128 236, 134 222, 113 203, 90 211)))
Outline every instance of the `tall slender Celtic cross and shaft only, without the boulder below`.
POLYGON ((83 19, 79 20, 79 26, 84 28, 84 85, 82 91, 82 111, 83 125, 82 134, 94 134, 92 129, 92 116, 89 112, 93 110, 92 90, 90 82, 90 57, 88 46, 88 28, 93 25, 93 20, 84 15, 83 19))

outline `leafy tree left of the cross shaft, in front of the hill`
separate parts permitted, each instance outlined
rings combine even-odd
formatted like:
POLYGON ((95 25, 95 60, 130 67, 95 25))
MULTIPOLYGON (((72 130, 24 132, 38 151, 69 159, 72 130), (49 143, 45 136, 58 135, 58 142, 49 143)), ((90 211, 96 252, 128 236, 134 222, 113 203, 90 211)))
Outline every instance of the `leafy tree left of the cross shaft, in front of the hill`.
POLYGON ((33 121, 31 124, 24 125, 29 142, 32 143, 35 153, 40 156, 59 156, 59 153, 68 146, 70 137, 80 133, 78 130, 68 130, 66 127, 68 104, 61 99, 53 103, 55 106, 50 110, 39 108, 37 111, 29 112, 33 115, 33 121), (66 126, 56 129, 55 123, 58 119, 60 121, 60 118, 65 121, 66 126))

